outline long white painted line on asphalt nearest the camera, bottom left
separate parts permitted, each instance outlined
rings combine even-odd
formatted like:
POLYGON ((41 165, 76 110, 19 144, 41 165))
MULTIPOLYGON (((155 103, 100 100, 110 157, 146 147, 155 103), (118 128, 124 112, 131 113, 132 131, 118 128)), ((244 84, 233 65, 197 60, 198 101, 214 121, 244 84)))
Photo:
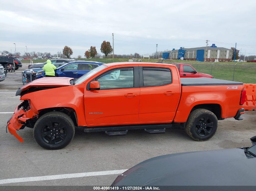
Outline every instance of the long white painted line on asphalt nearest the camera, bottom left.
POLYGON ((85 173, 73 173, 73 174, 58 174, 42 177, 25 177, 25 178, 10 178, 0 180, 0 184, 17 183, 17 182, 32 182, 41 180, 56 180, 65 178, 79 178, 79 177, 91 177, 91 176, 102 176, 110 174, 121 174, 127 169, 123 170, 108 170, 108 171, 98 171, 98 172, 85 172, 85 173))

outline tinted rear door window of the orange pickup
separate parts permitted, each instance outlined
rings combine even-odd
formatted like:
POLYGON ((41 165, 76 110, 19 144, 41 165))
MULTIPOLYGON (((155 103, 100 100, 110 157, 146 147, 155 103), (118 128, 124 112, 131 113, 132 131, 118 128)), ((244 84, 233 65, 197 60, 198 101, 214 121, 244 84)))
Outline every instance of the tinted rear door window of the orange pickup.
POLYGON ((143 86, 161 86, 171 83, 169 68, 143 67, 143 86))

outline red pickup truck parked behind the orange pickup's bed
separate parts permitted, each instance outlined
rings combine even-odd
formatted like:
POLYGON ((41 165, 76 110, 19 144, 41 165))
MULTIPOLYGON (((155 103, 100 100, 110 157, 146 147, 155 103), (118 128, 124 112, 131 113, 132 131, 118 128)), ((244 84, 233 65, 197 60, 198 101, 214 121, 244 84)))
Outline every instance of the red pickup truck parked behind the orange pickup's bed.
POLYGON ((193 66, 191 66, 190 64, 174 63, 174 65, 177 66, 181 78, 213 78, 212 75, 197 72, 196 69, 193 68, 193 66))

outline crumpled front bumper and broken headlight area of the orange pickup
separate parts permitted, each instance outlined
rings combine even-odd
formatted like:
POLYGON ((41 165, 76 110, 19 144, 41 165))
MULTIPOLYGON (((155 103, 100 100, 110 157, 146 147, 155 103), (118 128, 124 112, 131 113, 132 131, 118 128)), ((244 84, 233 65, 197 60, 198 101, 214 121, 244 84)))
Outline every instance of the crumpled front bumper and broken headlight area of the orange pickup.
POLYGON ((23 142, 23 139, 17 134, 17 131, 25 127, 25 123, 28 119, 38 117, 38 113, 35 113, 31 109, 31 104, 29 100, 24 100, 19 104, 13 113, 13 116, 7 122, 8 131, 14 135, 20 142, 23 142))

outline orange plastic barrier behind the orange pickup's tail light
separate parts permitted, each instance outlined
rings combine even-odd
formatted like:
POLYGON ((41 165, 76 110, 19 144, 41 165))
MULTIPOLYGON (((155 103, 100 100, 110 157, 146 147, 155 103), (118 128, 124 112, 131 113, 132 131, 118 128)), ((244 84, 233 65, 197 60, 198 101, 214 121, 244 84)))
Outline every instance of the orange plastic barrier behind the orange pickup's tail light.
POLYGON ((244 84, 246 97, 243 105, 244 110, 252 111, 256 109, 256 84, 244 84))

